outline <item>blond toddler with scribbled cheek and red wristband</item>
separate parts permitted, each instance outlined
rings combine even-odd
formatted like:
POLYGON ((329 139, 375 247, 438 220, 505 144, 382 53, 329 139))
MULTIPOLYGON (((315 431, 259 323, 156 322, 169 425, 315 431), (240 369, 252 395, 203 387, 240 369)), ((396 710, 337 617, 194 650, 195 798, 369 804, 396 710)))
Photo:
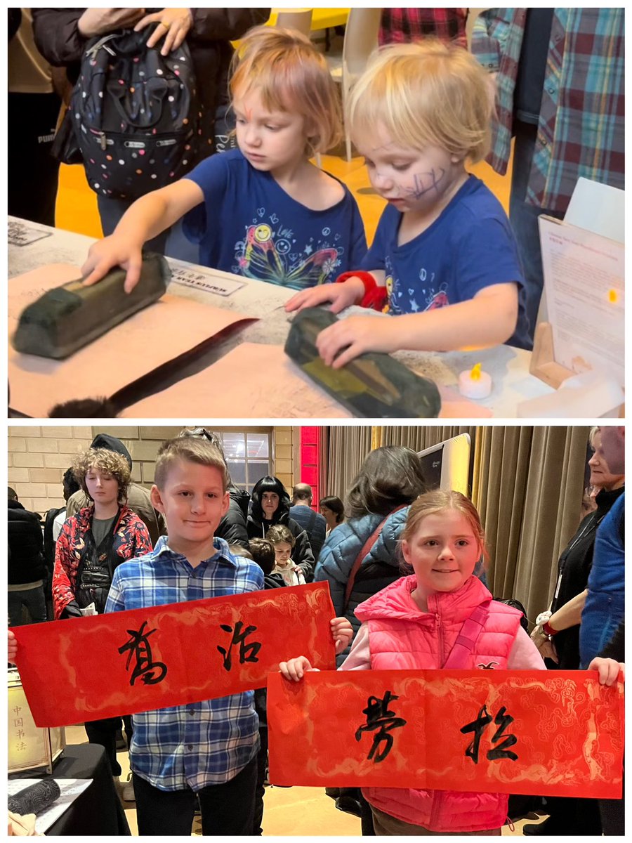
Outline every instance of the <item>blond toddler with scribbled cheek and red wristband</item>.
POLYGON ((487 74, 460 47, 385 47, 351 91, 347 121, 371 183, 388 200, 359 271, 293 296, 288 311, 331 303, 384 309, 321 331, 334 368, 363 352, 528 348, 522 269, 501 203, 465 162, 490 142, 487 74))

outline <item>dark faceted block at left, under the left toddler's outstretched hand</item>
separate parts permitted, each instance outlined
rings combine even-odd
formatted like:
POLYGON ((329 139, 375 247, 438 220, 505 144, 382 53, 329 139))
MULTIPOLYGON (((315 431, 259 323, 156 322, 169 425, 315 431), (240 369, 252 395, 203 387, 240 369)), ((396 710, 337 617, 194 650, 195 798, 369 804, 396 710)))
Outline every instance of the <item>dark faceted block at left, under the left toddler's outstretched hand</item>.
POLYGON ((69 281, 40 296, 24 308, 13 348, 23 354, 69 357, 89 342, 119 325, 138 310, 164 295, 171 272, 162 255, 142 255, 141 277, 131 293, 125 293, 126 271, 120 267, 91 287, 83 278, 69 281))

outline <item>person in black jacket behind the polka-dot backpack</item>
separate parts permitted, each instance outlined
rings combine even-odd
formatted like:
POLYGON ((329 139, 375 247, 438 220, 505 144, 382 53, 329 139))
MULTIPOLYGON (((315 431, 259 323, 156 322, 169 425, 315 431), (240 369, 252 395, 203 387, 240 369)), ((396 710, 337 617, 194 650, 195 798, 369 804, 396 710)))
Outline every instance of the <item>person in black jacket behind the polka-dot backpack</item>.
MULTIPOLYGON (((201 107, 200 158, 215 152, 225 143, 228 126, 217 128, 216 115, 228 105, 228 67, 233 56, 232 40, 241 38, 250 27, 264 24, 270 8, 33 8, 35 44, 51 65, 66 67, 68 79, 77 81, 79 62, 89 40, 117 30, 144 29, 147 43, 171 49, 183 40, 190 49, 198 80, 196 95, 201 107)), ((197 161, 191 160, 191 164, 197 161)), ((104 234, 112 234, 132 200, 114 199, 97 194, 104 234)), ((175 228, 175 227, 174 227, 175 228)), ((169 230, 147 243, 147 249, 164 253, 169 230)), ((184 235, 174 244, 176 250, 189 249, 184 235)), ((194 255, 169 255, 194 260, 194 255)))

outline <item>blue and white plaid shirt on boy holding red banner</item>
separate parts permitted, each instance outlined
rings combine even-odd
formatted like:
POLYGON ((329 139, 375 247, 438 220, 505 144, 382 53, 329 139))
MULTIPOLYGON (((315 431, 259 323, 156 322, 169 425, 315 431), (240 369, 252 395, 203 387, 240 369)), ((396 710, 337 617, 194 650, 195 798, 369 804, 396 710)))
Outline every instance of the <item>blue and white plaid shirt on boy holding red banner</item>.
MULTIPOLYGON (((106 612, 258 591, 263 571, 215 539, 217 552, 190 566, 161 536, 151 553, 125 562, 114 575, 106 612)), ((205 646, 201 642, 201 646, 205 646)), ((131 769, 163 791, 194 791, 237 776, 259 748, 253 691, 134 715, 131 769)))

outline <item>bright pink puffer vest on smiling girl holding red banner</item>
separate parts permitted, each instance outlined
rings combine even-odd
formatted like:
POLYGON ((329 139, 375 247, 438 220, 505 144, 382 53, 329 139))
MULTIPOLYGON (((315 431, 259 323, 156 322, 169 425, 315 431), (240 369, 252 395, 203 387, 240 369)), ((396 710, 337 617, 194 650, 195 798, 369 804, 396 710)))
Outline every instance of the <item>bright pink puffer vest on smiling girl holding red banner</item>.
MULTIPOLYGON (((463 621, 481 604, 489 605, 490 614, 471 663, 463 667, 507 667, 520 628, 517 609, 493 601, 483 583, 470 577, 458 592, 431 595, 424 613, 410 596, 415 586, 415 576, 402 577, 357 607, 356 616, 368 622, 372 669, 442 668, 463 621)), ((439 833, 498 829, 506 820, 509 798, 503 793, 399 787, 364 787, 362 793, 384 813, 439 833)))

